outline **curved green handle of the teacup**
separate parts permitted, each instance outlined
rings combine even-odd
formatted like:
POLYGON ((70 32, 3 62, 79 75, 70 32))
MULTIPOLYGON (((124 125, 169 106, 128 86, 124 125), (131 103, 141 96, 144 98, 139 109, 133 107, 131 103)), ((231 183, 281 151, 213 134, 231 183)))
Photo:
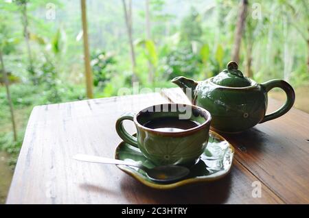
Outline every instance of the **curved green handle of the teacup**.
POLYGON ((126 113, 123 114, 122 117, 119 117, 116 121, 116 131, 117 134, 122 138, 123 141, 126 143, 133 145, 134 147, 138 147, 137 145, 137 138, 126 132, 124 129, 124 120, 128 119, 130 121, 133 121, 135 114, 133 113, 126 113))

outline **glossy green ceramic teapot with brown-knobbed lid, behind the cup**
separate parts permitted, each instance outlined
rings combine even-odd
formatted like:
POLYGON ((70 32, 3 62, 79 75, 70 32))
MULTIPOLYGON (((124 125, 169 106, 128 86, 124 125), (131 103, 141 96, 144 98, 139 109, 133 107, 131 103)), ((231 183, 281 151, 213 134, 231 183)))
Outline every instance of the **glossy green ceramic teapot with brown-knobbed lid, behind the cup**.
POLYGON ((295 92, 284 80, 270 80, 262 84, 244 77, 236 62, 229 62, 227 69, 208 80, 195 82, 186 77, 172 80, 183 88, 192 104, 211 113, 211 127, 219 132, 236 133, 258 123, 281 117, 292 108, 295 92), (267 109, 267 93, 272 88, 282 88, 286 93, 284 106, 271 114, 267 109))

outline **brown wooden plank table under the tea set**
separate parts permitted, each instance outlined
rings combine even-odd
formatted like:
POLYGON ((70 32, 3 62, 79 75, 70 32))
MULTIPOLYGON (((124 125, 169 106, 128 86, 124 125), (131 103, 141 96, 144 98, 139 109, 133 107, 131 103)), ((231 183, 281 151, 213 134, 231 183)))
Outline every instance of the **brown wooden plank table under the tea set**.
MULTIPOLYGON (((242 134, 225 135, 236 148, 236 156, 231 173, 216 182, 160 191, 140 184, 114 165, 71 158, 78 153, 113 157, 121 141, 115 132, 116 119, 124 112, 168 101, 187 102, 179 88, 172 88, 36 106, 7 204, 309 203, 309 114, 294 108, 242 134), (257 184, 260 197, 252 195, 257 184)), ((270 99, 268 109, 280 104, 270 99)), ((133 124, 128 124, 134 132, 133 124)))

